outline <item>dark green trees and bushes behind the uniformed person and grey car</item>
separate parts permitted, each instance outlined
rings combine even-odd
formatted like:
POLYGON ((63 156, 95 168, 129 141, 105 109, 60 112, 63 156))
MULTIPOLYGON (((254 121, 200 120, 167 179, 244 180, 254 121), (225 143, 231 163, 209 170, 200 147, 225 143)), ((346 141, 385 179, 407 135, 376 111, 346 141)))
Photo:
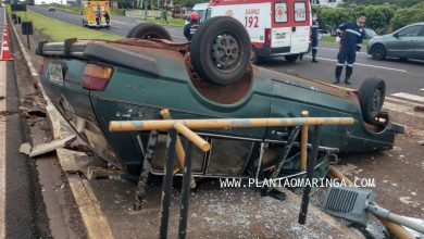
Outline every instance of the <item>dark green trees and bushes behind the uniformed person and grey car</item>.
MULTIPOLYGON (((362 0, 362 2, 367 1, 376 3, 379 0, 362 0)), ((422 0, 382 0, 382 2, 385 3, 358 5, 346 2, 338 8, 313 5, 312 11, 319 14, 320 26, 326 29, 335 29, 342 23, 354 21, 361 13, 365 14, 367 18, 365 27, 372 28, 378 34, 388 34, 408 24, 424 22, 424 2, 422 0), (411 2, 415 4, 410 5, 411 2), (407 5, 407 8, 399 5, 407 5)))

